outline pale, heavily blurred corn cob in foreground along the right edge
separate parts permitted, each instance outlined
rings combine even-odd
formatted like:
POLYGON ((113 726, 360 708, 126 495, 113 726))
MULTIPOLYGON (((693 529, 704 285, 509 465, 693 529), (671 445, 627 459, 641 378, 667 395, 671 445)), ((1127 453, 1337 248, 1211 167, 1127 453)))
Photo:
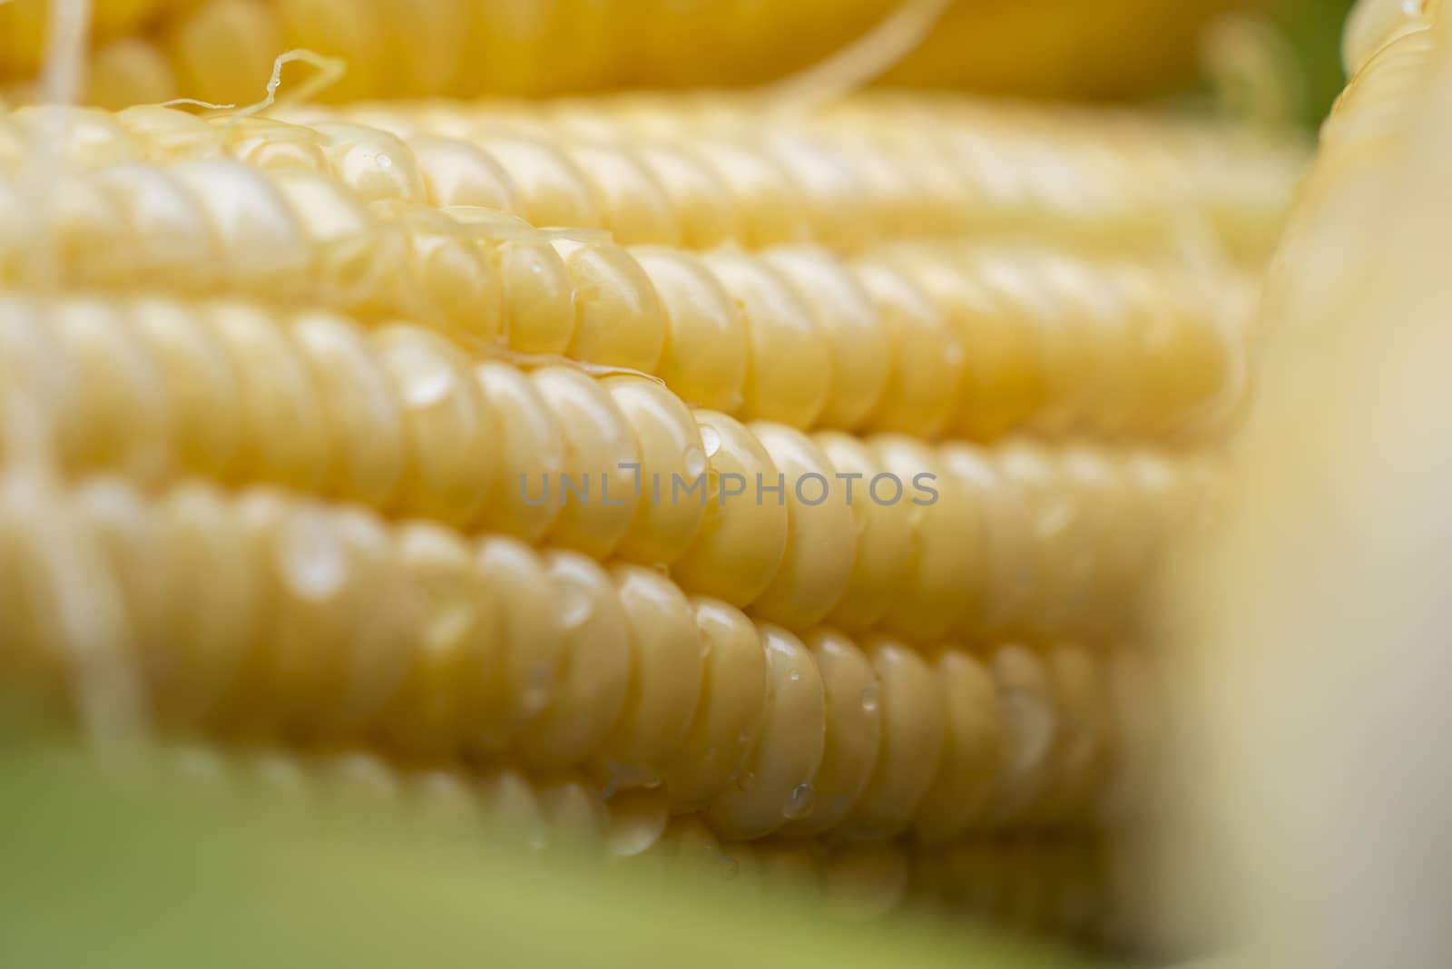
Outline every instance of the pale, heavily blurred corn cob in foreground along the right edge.
POLYGON ((1452 16, 1363 0, 1345 59, 1266 286, 1233 514, 1180 601, 1186 801, 1225 827, 1192 836, 1214 863, 1173 860, 1192 889, 1230 859, 1237 965, 1430 969, 1452 957, 1452 16))

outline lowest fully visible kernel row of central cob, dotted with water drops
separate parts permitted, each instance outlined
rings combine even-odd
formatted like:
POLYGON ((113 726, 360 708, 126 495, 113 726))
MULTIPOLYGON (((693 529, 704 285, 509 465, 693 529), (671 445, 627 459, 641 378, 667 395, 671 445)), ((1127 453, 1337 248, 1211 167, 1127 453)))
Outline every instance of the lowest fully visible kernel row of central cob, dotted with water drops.
POLYGON ((587 766, 664 782, 733 840, 1133 812, 1153 763, 1133 653, 803 640, 650 569, 199 483, 150 499, 15 473, 0 538, 12 682, 64 690, 105 647, 171 730, 587 766), (113 624, 74 627, 77 601, 113 624))

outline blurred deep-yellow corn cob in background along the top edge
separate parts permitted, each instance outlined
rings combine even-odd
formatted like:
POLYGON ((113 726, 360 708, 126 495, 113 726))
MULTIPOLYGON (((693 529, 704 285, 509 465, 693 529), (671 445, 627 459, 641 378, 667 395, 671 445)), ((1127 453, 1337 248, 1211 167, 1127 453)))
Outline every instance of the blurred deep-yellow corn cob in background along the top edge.
MULTIPOLYGON (((0 78, 44 57, 46 4, 0 6, 0 78)), ((90 99, 245 103, 273 58, 348 62, 325 97, 540 96, 761 84, 864 36, 925 35, 893 84, 1040 97, 1157 93, 1205 25, 1265 0, 97 0, 90 99)), ((892 42, 892 41, 890 41, 892 42)))

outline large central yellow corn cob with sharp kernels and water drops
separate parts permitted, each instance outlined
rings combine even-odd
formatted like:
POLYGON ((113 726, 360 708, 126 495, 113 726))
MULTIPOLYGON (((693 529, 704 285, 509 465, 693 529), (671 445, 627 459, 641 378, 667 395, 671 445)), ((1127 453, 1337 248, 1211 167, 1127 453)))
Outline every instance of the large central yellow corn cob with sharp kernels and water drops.
POLYGON ((0 672, 224 786, 1134 944, 1141 606, 1300 164, 918 93, 10 110, 0 672))

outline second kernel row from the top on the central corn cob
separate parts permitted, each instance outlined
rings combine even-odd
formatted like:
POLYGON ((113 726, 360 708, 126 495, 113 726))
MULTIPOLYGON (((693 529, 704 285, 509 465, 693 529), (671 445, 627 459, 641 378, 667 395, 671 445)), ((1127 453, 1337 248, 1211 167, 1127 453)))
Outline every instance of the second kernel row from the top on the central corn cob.
POLYGON ((905 247, 854 263, 531 238, 470 210, 380 215, 327 176, 228 161, 0 177, 0 279, 241 292, 408 318, 470 350, 658 373, 793 426, 977 440, 1212 429, 1244 397, 1249 289, 1035 248, 905 247), (45 248, 51 247, 49 252, 45 248))

